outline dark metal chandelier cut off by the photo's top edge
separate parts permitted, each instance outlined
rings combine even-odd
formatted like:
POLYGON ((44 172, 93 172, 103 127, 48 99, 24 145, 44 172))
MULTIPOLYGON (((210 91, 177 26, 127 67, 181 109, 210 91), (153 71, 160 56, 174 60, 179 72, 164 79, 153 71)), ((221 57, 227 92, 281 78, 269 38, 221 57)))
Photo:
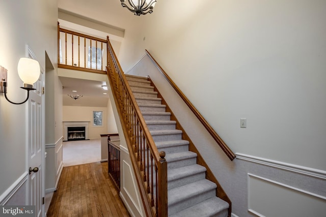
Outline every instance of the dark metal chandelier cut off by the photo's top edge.
POLYGON ((134 12, 134 15, 153 13, 156 0, 120 0, 122 7, 126 7, 129 11, 134 12), (128 2, 128 5, 125 4, 128 2))

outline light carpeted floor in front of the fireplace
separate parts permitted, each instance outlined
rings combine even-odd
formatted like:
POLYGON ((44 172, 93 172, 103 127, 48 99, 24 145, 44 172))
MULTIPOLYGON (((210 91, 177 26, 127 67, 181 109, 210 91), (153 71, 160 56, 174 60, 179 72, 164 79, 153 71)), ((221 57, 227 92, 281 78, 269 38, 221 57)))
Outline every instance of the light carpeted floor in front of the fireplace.
POLYGON ((62 161, 64 167, 101 161, 101 139, 64 142, 62 161))

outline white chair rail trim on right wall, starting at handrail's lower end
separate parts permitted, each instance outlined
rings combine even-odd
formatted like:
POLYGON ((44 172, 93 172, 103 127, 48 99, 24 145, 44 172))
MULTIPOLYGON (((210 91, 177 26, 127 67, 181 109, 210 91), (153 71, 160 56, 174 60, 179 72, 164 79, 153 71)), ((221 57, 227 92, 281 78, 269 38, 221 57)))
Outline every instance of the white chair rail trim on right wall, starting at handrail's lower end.
POLYGON ((249 154, 235 153, 236 158, 244 161, 254 162, 262 165, 267 165, 271 167, 276 167, 284 170, 289 170, 291 172, 301 173, 305 175, 310 175, 318 178, 326 179, 326 171, 313 169, 309 167, 304 167, 295 164, 289 164, 280 161, 274 161, 270 159, 260 158, 256 156, 251 156, 249 154))

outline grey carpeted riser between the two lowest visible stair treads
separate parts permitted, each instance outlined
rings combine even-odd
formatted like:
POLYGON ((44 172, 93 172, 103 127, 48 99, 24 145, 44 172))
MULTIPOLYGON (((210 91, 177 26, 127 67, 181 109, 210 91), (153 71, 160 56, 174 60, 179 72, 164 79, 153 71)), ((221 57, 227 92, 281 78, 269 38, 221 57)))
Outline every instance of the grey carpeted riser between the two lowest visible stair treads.
POLYGON ((186 200, 180 201, 176 204, 169 204, 168 205, 168 213, 170 214, 174 214, 178 211, 181 211, 182 209, 191 207, 201 201, 207 200, 211 197, 215 197, 215 189, 210 190, 208 192, 202 193, 200 195, 196 195, 192 198, 187 198, 186 200))

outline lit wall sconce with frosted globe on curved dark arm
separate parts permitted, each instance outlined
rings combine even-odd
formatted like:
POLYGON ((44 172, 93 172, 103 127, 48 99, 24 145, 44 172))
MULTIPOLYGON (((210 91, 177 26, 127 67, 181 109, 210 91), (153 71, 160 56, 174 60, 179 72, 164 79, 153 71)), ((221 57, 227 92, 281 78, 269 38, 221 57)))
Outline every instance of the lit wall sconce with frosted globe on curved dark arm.
POLYGON ((22 57, 19 59, 18 62, 18 75, 19 78, 23 81, 24 86, 20 87, 22 89, 27 90, 27 98, 21 103, 14 103, 10 101, 7 97, 7 69, 0 67, 0 92, 5 94, 5 98, 8 102, 20 105, 28 101, 30 97, 30 90, 34 90, 33 84, 39 79, 40 77, 40 64, 37 60, 31 58, 22 57))

